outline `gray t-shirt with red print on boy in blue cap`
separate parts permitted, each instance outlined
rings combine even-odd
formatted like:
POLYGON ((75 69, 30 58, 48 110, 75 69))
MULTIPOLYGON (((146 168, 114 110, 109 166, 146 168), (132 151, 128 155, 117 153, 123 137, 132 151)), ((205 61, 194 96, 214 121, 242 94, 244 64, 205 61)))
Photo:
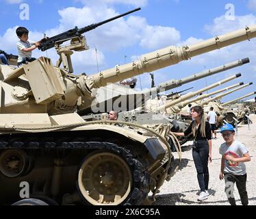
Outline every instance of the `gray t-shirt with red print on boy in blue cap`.
MULTIPOLYGON (((248 149, 241 142, 234 141, 231 146, 227 146, 226 142, 220 145, 221 155, 231 155, 232 157, 238 158, 243 157, 245 153, 248 153, 248 149)), ((244 162, 231 162, 225 159, 225 173, 232 173, 233 175, 245 175, 246 166, 244 162)))

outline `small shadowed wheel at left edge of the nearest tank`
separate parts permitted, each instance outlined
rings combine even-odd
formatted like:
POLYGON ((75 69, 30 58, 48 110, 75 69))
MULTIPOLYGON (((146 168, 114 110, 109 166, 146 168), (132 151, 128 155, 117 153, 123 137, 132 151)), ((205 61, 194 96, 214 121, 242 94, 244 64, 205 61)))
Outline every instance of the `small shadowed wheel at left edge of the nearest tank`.
POLYGON ((31 160, 24 151, 8 150, 0 155, 0 171, 5 177, 21 177, 31 169, 31 160))

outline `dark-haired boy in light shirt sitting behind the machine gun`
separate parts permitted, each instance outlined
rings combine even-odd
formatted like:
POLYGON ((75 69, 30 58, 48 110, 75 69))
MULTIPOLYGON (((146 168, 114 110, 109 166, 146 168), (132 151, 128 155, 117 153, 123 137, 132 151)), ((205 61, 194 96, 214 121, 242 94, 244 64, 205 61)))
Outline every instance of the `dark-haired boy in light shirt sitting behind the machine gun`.
POLYGON ((29 31, 25 27, 18 27, 16 34, 20 39, 16 45, 18 49, 18 67, 21 64, 27 64, 33 62, 36 58, 32 57, 32 51, 40 46, 40 41, 33 42, 29 40, 29 31))

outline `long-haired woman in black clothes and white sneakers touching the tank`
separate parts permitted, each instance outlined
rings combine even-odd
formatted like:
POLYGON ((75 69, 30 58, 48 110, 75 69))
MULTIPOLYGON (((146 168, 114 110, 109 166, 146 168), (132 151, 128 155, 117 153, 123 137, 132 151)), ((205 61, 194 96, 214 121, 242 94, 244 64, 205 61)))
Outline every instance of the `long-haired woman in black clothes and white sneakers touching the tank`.
POLYGON ((191 116, 194 118, 187 130, 183 133, 175 133, 176 136, 190 136, 194 138, 192 156, 196 166, 197 180, 199 181, 200 194, 198 201, 208 198, 209 170, 208 161, 212 162, 212 134, 211 127, 205 121, 204 111, 201 106, 191 108, 191 116))

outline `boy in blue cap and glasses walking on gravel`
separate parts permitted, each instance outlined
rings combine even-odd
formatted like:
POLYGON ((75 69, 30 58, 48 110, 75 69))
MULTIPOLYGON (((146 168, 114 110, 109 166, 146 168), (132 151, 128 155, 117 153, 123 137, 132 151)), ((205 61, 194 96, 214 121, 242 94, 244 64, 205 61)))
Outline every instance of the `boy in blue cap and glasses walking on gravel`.
POLYGON ((242 205, 248 205, 248 196, 246 192, 246 166, 244 162, 251 161, 248 149, 234 139, 235 129, 231 124, 221 127, 220 133, 225 143, 220 145, 220 154, 222 155, 220 167, 220 180, 225 178, 225 192, 231 205, 235 205, 233 196, 234 185, 238 188, 242 205))

